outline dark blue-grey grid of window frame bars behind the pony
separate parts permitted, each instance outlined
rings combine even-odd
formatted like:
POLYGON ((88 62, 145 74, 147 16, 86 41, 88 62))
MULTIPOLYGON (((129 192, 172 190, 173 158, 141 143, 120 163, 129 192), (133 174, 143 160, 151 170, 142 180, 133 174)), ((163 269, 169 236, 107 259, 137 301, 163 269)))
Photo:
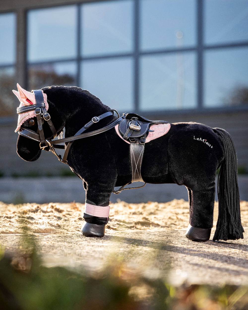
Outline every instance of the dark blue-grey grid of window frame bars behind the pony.
MULTIPOLYGON (((118 1, 118 0, 113 0, 118 1)), ((121 58, 121 57, 133 57, 134 60, 134 68, 133 68, 133 77, 134 77, 134 88, 133 88, 133 98, 134 98, 134 109, 136 112, 140 112, 140 102, 139 102, 139 59, 142 55, 165 55, 167 53, 178 53, 178 52, 188 52, 194 51, 197 57, 197 66, 196 66, 196 88, 197 88, 197 106, 194 109, 161 109, 159 111, 144 111, 143 114, 185 114, 185 113, 220 113, 220 112, 235 112, 235 111, 243 111, 248 110, 248 106, 246 105, 236 105, 236 106, 223 106, 223 107, 205 107, 203 98, 204 98, 204 53, 208 50, 218 50, 223 48, 235 48, 235 47, 248 47, 248 41, 241 42, 227 42, 221 44, 205 44, 204 43, 204 0, 195 0, 196 1, 196 45, 183 47, 183 48, 165 48, 165 49, 151 49, 149 51, 141 51, 139 47, 139 27, 140 27, 140 1, 142 0, 133 0, 134 2, 134 29, 133 29, 133 40, 134 40, 134 50, 128 53, 111 53, 107 55, 98 55, 98 56, 87 56, 84 57, 81 55, 81 6, 85 3, 96 3, 96 2, 104 2, 104 1, 84 1, 84 2, 76 2, 76 3, 68 3, 61 5, 51 5, 46 7, 36 7, 30 8, 27 10, 27 14, 31 10, 37 10, 42 8, 51 8, 51 7, 61 7, 61 6, 71 6, 75 5, 77 7, 77 55, 73 58, 64 58, 60 60, 51 60, 51 61, 38 61, 38 62, 29 62, 26 59, 26 71, 28 71, 29 65, 35 64, 53 64, 60 63, 66 61, 76 61, 77 63, 77 85, 80 85, 80 76, 81 76, 81 62, 84 60, 100 60, 100 59, 108 59, 108 58, 121 58)), ((205 0, 206 1, 206 0, 205 0)), ((27 23, 27 18, 26 18, 27 23)), ((27 28, 26 28, 27 29, 27 28)), ((28 30, 28 29, 27 29, 28 30)), ((27 36, 26 36, 27 37, 27 36)), ((27 41, 27 40, 26 40, 27 41)), ((27 44, 26 44, 27 48, 27 44)), ((28 77, 28 73, 27 73, 28 77)), ((29 77, 27 80, 27 84, 29 81, 29 77)))

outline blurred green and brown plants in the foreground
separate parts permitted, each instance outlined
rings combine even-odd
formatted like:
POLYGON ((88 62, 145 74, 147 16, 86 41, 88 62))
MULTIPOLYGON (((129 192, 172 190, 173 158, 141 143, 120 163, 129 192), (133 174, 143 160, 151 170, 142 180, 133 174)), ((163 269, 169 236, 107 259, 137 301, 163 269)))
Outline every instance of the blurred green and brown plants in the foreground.
POLYGON ((18 253, 0 249, 1 310, 247 310, 248 287, 175 287, 113 260, 89 274, 44 267, 34 236, 24 228, 18 253))

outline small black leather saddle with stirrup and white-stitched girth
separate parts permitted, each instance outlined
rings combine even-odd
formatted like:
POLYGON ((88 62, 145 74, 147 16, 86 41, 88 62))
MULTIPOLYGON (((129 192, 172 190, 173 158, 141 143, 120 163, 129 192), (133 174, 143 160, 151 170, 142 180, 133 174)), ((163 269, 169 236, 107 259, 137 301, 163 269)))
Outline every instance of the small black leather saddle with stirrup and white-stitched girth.
MULTIPOLYGON (((119 133, 123 139, 130 142, 130 161, 132 168, 132 181, 144 182, 141 176, 141 165, 144 154, 144 144, 148 136, 150 126, 154 124, 166 124, 166 121, 151 121, 135 113, 124 113, 123 120, 119 123, 119 133)), ((123 186, 124 187, 124 186, 123 186)), ((126 188, 120 188, 120 190, 126 188)), ((143 186, 142 186, 143 187, 143 186)))

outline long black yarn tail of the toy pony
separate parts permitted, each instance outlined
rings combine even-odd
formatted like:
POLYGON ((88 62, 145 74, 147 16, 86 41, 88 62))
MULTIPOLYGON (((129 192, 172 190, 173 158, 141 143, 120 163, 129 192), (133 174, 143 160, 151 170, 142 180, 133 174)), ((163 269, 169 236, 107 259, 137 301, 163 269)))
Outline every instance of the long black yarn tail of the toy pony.
POLYGON ((221 128, 214 131, 221 140, 225 158, 218 176, 219 216, 213 240, 243 239, 236 150, 227 131, 221 128))

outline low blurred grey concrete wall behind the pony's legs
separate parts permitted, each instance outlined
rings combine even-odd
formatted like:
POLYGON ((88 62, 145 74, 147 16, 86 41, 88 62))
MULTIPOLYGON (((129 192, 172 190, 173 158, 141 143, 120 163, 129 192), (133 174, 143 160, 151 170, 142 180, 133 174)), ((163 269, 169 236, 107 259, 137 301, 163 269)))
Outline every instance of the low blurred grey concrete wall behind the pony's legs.
MULTIPOLYGON (((135 186, 142 185, 137 183, 135 186)), ((238 177, 239 193, 241 200, 248 200, 248 176, 238 177)), ((217 178, 215 180, 215 200, 217 196, 217 178)), ((0 201, 5 203, 48 203, 48 202, 85 202, 85 191, 82 181, 74 177, 51 178, 1 178, 0 201), (25 186, 24 186, 25 185, 25 186)), ((117 188, 116 188, 117 189, 117 188)), ((185 186, 177 184, 147 184, 144 188, 125 190, 119 195, 111 194, 110 201, 140 203, 147 201, 166 202, 173 199, 188 200, 188 191, 185 186)))

